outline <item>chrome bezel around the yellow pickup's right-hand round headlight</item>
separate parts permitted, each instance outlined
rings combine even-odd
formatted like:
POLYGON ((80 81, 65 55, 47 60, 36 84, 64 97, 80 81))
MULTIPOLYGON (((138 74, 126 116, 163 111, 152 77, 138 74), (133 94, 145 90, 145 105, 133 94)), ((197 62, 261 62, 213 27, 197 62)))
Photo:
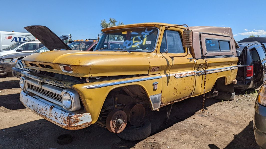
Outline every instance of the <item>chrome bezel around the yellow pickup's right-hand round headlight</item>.
POLYGON ((62 103, 63 103, 63 95, 67 93, 70 95, 70 98, 71 98, 71 104, 72 106, 67 109, 66 107, 64 107, 63 105, 63 108, 68 110, 68 111, 76 111, 76 110, 79 110, 80 109, 80 97, 78 96, 78 93, 74 90, 70 90, 70 89, 65 89, 61 92, 61 95, 62 95, 62 103))

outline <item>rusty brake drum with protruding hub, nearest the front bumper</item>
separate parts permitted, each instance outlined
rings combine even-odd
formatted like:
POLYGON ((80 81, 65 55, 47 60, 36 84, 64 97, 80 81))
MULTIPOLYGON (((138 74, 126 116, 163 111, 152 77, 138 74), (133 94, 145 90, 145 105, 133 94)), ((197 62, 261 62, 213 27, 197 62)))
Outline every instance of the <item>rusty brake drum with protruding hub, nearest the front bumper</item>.
POLYGON ((106 119, 106 127, 110 132, 120 133, 127 125, 127 115, 124 111, 114 109, 111 111, 106 119))

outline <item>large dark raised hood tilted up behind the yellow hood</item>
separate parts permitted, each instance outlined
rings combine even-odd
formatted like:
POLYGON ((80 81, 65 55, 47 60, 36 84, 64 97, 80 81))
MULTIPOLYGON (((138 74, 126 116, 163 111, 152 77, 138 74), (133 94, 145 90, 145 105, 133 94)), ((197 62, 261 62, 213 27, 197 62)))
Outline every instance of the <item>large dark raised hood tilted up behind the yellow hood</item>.
POLYGON ((45 47, 50 51, 53 49, 66 49, 71 50, 68 45, 64 43, 55 33, 49 28, 40 25, 32 25, 24 27, 34 37, 36 37, 45 47))

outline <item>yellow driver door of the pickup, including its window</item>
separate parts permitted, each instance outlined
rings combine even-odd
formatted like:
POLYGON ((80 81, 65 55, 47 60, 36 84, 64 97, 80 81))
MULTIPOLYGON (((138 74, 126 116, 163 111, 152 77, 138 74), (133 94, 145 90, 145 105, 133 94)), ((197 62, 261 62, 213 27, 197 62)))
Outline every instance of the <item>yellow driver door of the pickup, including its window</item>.
POLYGON ((164 30, 160 46, 160 60, 163 64, 162 102, 189 98, 195 83, 195 61, 182 46, 182 29, 164 30))

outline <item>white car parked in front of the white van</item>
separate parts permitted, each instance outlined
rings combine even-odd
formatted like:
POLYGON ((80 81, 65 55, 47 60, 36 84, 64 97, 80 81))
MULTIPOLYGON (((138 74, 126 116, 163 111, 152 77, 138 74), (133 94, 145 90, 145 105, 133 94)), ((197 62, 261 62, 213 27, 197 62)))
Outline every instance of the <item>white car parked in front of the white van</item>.
POLYGON ((44 45, 39 40, 24 40, 20 42, 16 42, 9 47, 0 50, 0 56, 13 54, 13 53, 24 53, 24 52, 33 52, 44 45))

